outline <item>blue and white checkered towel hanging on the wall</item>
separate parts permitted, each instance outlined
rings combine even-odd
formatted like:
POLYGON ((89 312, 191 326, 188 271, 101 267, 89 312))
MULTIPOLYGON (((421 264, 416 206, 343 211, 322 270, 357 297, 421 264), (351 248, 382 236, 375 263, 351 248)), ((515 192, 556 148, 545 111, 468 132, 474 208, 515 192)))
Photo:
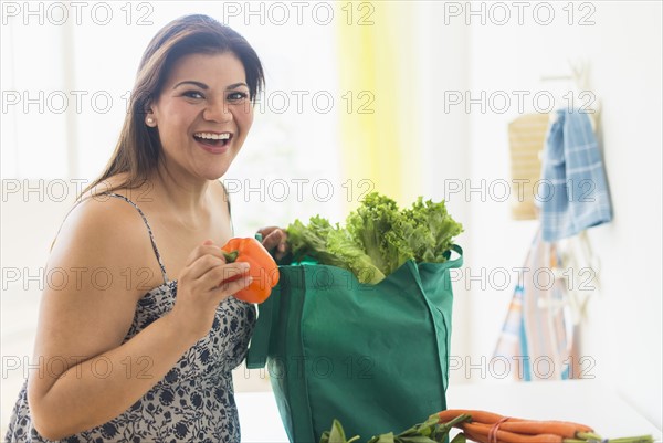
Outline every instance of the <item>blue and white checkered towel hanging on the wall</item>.
POLYGON ((557 110, 546 139, 536 200, 547 242, 612 220, 603 162, 587 114, 557 110))

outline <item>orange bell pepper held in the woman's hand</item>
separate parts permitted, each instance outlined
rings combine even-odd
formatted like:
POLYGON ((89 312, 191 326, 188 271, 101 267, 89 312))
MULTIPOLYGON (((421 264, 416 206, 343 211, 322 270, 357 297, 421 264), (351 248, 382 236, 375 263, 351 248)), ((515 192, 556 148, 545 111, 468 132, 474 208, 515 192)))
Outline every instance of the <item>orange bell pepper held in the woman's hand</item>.
MULTIPOLYGON (((255 239, 235 238, 230 239, 221 247, 227 263, 245 262, 251 265, 249 274, 253 282, 234 297, 248 303, 263 303, 272 293, 272 288, 278 283, 278 265, 272 255, 255 239)), ((241 278, 241 275, 232 276, 225 281, 241 278)))

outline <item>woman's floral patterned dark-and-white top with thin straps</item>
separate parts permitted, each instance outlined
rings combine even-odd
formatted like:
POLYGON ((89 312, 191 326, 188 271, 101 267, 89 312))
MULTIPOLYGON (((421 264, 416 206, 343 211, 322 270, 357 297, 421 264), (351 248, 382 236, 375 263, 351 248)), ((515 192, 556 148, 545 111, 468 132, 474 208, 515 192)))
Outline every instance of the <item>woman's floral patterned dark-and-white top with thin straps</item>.
MULTIPOLYGON (((177 281, 169 281, 143 211, 124 196, 107 193, 133 204, 145 221, 161 267, 164 284, 136 305, 124 341, 172 309, 177 281)), ((255 307, 229 297, 217 308, 209 334, 191 347, 172 369, 135 404, 112 421, 71 435, 61 442, 240 442, 232 370, 245 357, 255 325, 255 307)), ((27 382, 10 419, 6 442, 49 442, 32 425, 27 382)))

